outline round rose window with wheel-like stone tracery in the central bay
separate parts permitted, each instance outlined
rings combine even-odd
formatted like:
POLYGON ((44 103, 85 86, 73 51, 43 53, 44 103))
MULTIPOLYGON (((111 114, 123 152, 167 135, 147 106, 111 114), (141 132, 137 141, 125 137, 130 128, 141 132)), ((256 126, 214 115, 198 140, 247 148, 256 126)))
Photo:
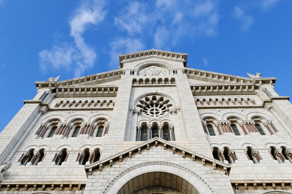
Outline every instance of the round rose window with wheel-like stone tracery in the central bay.
POLYGON ((146 96, 139 100, 137 107, 141 108, 147 117, 163 117, 168 114, 168 108, 173 106, 171 101, 164 96, 146 96))

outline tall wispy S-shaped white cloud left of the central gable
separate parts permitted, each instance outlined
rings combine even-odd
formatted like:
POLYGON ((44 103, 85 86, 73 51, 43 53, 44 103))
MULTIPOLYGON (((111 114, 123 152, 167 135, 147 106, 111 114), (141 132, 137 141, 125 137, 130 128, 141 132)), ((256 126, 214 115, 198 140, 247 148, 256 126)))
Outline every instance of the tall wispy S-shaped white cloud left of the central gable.
POLYGON ((105 2, 85 1, 74 12, 74 16, 69 21, 71 31, 70 36, 74 38, 74 43, 54 45, 51 49, 45 49, 39 53, 40 67, 48 70, 48 67, 58 70, 66 67, 67 70, 74 69, 74 75, 79 77, 85 69, 93 67, 97 55, 93 48, 84 42, 81 36, 88 25, 96 25, 101 22, 105 14, 105 2))

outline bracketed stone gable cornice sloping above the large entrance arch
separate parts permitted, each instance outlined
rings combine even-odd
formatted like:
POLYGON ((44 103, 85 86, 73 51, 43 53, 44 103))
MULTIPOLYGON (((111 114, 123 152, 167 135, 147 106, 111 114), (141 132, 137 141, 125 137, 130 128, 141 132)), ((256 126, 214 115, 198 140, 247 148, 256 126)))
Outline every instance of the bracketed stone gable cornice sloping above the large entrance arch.
MULTIPOLYGON (((84 168, 88 175, 91 175, 92 169, 98 168, 99 170, 102 170, 103 167, 110 166, 113 160, 121 160, 123 157, 132 157, 132 155, 139 154, 139 152, 142 151, 142 149, 155 149, 150 148, 150 145, 155 145, 155 147, 164 147, 164 149, 172 148, 173 154, 180 154, 181 157, 185 157, 186 155, 190 155, 192 161, 201 161, 203 166, 206 166, 206 163, 212 164, 213 166, 220 167, 225 170, 225 173, 230 172, 231 164, 225 164, 219 160, 215 160, 214 158, 207 157, 205 155, 201 155, 199 153, 196 153, 192 150, 189 150, 187 148, 184 148, 182 146, 178 146, 174 143, 171 143, 169 141, 165 141, 163 139, 160 139, 158 137, 152 138, 148 141, 142 142, 136 146, 133 146, 132 148, 126 149, 124 151, 121 151, 115 155, 112 155, 110 157, 107 157, 103 160, 94 162, 89 165, 85 165, 84 168)), ((215 168, 214 168, 215 169, 215 168)))

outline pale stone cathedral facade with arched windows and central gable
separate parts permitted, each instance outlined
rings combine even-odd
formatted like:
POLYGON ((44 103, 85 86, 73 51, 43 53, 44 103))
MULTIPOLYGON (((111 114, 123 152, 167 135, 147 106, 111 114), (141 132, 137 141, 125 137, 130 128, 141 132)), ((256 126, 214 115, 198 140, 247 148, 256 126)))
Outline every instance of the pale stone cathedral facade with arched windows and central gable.
POLYGON ((35 82, 0 133, 0 193, 292 193, 292 105, 276 78, 154 49, 119 60, 35 82))

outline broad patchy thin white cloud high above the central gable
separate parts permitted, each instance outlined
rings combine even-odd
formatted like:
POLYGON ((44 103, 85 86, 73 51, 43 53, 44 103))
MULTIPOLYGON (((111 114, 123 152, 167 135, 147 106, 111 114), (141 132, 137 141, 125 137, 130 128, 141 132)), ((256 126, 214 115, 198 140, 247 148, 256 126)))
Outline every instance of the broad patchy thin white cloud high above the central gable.
POLYGON ((145 44, 158 49, 171 49, 186 37, 214 37, 218 20, 217 4, 212 0, 157 0, 155 6, 133 1, 114 18, 118 29, 140 41, 153 39, 145 44))

